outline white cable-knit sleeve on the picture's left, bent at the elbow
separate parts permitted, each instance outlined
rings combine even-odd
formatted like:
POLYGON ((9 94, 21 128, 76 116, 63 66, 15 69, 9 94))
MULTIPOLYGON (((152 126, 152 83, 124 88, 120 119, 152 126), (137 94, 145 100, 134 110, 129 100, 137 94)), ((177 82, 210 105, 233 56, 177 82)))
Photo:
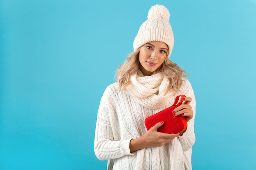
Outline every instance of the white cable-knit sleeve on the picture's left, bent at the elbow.
MULTIPOLYGON (((111 117, 115 110, 112 107, 110 99, 108 98, 109 89, 104 92, 99 105, 95 138, 94 138, 94 152, 98 159, 116 159, 125 155, 134 155, 130 153, 131 139, 115 139, 115 124, 112 124, 111 117)), ((118 138, 118 137, 115 137, 118 138)))

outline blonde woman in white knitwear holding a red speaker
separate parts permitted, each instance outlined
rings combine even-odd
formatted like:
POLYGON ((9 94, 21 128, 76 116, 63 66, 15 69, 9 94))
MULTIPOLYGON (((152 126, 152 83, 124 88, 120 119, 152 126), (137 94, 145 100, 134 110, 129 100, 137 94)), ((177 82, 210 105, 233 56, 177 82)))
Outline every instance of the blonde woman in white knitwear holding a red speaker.
POLYGON ((101 98, 94 141, 98 159, 108 159, 108 170, 191 170, 195 142, 195 97, 184 71, 171 62, 174 38, 170 13, 162 5, 151 7, 139 28, 134 53, 117 69, 117 81, 101 98), (144 120, 174 103, 184 103, 173 115, 184 115, 186 130, 158 132, 158 122, 146 130, 144 120))

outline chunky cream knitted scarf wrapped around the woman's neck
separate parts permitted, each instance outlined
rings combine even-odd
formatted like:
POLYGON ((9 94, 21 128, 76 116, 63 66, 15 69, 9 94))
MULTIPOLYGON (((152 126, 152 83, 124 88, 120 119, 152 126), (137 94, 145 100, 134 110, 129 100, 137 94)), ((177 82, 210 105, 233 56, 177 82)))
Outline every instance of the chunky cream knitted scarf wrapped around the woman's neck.
POLYGON ((136 101, 150 109, 167 105, 173 93, 169 90, 169 80, 162 73, 144 76, 140 70, 131 76, 126 92, 136 101))

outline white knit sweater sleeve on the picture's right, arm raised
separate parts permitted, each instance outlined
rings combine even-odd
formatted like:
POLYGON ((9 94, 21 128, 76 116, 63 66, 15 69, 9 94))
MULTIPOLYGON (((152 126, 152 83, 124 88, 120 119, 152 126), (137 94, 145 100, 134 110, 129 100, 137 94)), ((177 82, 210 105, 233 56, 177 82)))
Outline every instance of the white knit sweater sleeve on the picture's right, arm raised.
POLYGON ((189 120, 188 123, 188 127, 186 132, 184 132, 184 134, 181 137, 178 137, 180 140, 180 143, 182 145, 182 149, 183 151, 189 150, 192 148, 193 144, 195 143, 195 132, 194 132, 194 123, 195 123, 195 95, 194 95, 194 91, 193 88, 190 84, 190 82, 188 80, 184 81, 184 89, 182 89, 184 95, 186 95, 186 97, 191 97, 192 101, 190 103, 190 105, 192 106, 192 110, 193 110, 193 118, 191 120, 189 120))

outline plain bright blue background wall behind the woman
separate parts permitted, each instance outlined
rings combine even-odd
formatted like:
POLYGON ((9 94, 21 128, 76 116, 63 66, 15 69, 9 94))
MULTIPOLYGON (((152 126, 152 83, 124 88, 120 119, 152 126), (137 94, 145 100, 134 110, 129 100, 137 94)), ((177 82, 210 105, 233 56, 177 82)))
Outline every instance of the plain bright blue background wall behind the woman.
POLYGON ((256 167, 256 0, 0 0, 0 170, 103 170, 99 101, 152 5, 197 99, 193 170, 256 167))

